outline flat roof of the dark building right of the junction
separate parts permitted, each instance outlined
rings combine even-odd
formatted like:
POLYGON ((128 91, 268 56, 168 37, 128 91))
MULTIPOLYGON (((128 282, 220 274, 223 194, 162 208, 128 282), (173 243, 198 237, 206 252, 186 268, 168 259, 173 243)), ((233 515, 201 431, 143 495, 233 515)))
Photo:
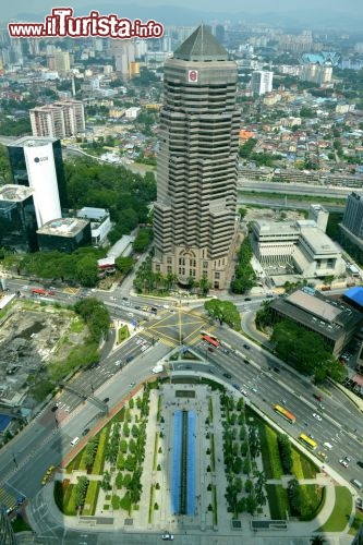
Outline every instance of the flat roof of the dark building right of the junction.
POLYGON ((330 339, 338 339, 363 320, 363 314, 341 301, 332 301, 319 292, 297 290, 271 302, 271 308, 330 339))

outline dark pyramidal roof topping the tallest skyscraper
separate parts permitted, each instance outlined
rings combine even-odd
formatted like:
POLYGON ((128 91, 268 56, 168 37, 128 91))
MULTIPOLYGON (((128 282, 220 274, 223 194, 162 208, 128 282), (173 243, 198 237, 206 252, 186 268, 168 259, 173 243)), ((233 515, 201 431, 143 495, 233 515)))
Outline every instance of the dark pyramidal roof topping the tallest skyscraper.
POLYGON ((174 59, 183 61, 228 61, 228 52, 210 31, 201 25, 174 51, 174 59))

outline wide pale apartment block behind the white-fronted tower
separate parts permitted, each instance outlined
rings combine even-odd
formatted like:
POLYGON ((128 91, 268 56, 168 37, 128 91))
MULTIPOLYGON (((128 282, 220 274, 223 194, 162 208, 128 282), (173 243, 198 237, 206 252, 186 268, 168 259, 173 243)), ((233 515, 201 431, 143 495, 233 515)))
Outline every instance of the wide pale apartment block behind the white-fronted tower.
POLYGON ((64 138, 85 131, 84 105, 81 100, 56 101, 29 110, 33 136, 64 138))

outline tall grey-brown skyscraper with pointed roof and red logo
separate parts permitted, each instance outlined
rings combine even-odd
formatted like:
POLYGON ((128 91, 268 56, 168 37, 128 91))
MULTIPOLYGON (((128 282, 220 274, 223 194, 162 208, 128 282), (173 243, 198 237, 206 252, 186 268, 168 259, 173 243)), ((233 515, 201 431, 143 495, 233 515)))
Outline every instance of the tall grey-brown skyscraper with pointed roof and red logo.
POLYGON ((237 65, 205 26, 165 63, 154 270, 180 282, 229 278, 235 235, 237 65))

